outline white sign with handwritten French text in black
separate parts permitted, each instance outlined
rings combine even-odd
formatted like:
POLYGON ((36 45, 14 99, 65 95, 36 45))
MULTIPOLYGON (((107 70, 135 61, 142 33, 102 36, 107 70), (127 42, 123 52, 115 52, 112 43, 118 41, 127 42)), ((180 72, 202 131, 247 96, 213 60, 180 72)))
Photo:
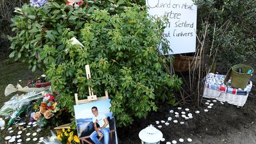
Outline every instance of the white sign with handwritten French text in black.
POLYGON ((176 53, 196 52, 197 6, 191 0, 146 0, 148 13, 154 17, 167 16, 163 37, 176 53))

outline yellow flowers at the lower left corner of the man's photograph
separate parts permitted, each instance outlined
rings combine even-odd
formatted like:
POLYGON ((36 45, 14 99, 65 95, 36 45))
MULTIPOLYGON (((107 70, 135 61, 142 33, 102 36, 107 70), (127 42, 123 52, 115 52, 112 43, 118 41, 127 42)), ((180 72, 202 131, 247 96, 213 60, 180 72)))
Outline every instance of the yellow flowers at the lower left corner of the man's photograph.
POLYGON ((79 137, 73 134, 73 130, 62 129, 62 132, 63 133, 60 133, 59 135, 57 135, 57 139, 59 139, 60 142, 66 143, 66 144, 80 143, 79 137))

